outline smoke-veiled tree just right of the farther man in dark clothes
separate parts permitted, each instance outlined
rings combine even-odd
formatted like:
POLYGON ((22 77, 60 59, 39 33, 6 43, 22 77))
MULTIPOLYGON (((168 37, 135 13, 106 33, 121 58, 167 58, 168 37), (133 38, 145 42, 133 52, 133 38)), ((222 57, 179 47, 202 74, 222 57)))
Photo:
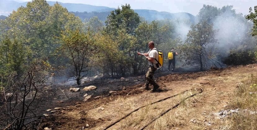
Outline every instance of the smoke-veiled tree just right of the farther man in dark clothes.
POLYGON ((200 67, 201 71, 208 67, 209 59, 215 56, 213 48, 217 43, 215 32, 213 25, 207 21, 191 26, 185 44, 179 47, 188 65, 200 67))

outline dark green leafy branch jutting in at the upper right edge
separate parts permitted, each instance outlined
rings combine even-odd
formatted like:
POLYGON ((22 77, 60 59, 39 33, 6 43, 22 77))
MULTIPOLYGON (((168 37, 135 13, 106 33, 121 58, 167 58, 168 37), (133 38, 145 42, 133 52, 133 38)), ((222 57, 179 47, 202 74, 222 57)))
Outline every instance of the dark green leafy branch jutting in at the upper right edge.
POLYGON ((249 15, 246 15, 246 19, 253 21, 254 25, 252 28, 252 35, 256 36, 257 35, 257 6, 254 7, 254 12, 252 8, 250 7, 249 9, 249 15))

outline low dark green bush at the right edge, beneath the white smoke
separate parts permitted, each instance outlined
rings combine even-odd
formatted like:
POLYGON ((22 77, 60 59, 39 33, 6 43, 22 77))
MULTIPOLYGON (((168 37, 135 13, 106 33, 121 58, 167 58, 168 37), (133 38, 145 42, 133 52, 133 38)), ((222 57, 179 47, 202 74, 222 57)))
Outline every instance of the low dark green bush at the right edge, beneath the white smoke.
POLYGON ((230 50, 228 57, 223 60, 227 65, 246 65, 254 63, 256 60, 256 52, 252 50, 230 50))

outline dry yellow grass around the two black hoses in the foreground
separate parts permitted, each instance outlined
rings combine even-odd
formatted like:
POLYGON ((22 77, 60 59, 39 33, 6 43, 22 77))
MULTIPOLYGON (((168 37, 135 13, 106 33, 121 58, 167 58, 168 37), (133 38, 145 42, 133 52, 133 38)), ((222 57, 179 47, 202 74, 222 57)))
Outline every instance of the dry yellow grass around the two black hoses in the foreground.
MULTIPOLYGON (((139 111, 133 113, 126 119, 124 119, 121 123, 119 123, 120 129, 139 129, 148 122, 151 122, 152 119, 156 118, 162 112, 166 111, 167 109, 171 108, 178 102, 182 101, 183 99, 187 98, 188 96, 197 93, 196 91, 189 91, 187 93, 178 95, 174 98, 167 99, 163 102, 158 102, 153 105, 146 106, 139 111)), ((194 100, 187 99, 187 100, 194 100)), ((150 102, 149 102, 150 103, 150 102)), ((190 102, 182 102, 178 108, 181 111, 180 114, 173 110, 166 113, 164 116, 160 117, 152 124, 150 124, 146 129, 155 129, 155 130, 165 130, 165 129, 175 129, 176 126, 181 126, 184 123, 186 115, 188 115, 191 111, 184 106, 190 105, 190 102)), ((178 110, 175 110, 178 111, 178 110)), ((190 120, 190 119, 189 119, 190 120)))

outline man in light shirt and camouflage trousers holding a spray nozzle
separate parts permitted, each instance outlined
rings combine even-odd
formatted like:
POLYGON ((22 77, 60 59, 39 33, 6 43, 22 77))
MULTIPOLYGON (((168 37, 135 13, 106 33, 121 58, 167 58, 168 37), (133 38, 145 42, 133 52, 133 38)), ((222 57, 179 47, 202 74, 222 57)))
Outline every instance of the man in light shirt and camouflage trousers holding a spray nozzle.
POLYGON ((141 54, 141 53, 138 52, 138 55, 146 56, 146 59, 148 60, 148 64, 149 64, 149 68, 148 68, 147 73, 146 73, 146 83, 145 83, 145 86, 142 87, 141 89, 150 90, 149 84, 151 84, 151 85, 154 86, 152 91, 155 92, 159 88, 159 85, 156 84, 156 82, 154 81, 154 78, 153 78, 154 77, 154 72, 158 68, 156 66, 156 64, 158 64, 158 62, 156 60, 159 60, 159 54, 158 54, 157 49, 154 47, 154 42, 153 41, 150 41, 148 43, 148 47, 150 48, 150 50, 147 53, 141 54))

